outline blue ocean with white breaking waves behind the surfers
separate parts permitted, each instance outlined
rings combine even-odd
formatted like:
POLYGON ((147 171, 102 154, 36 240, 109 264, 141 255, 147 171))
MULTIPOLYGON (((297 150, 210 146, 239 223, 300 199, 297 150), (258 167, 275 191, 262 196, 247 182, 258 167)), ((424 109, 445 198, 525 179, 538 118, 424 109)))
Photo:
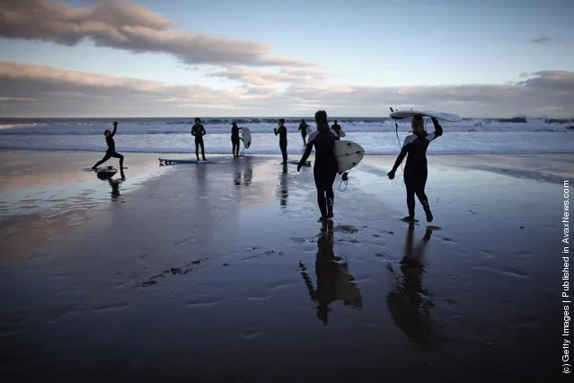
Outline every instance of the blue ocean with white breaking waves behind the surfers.
MULTIPOLYGON (((287 152, 301 154, 303 141, 298 131, 302 118, 286 118, 287 152)), ((113 119, 0 119, 0 149, 106 150, 104 129, 113 119)), ((116 119, 116 149, 121 153, 194 153, 190 136, 193 117, 116 119)), ((278 154, 278 137, 273 134, 276 119, 201 118, 207 130, 206 153, 231 153, 231 122, 252 130, 252 147, 245 154, 278 154)), ((316 129, 313 118, 305 118, 316 129)), ((334 120, 334 119, 333 119, 334 120)), ((331 124, 333 120, 330 120, 331 124)), ((390 118, 339 118, 351 141, 365 148, 366 155, 394 155, 409 134, 409 120, 390 118)), ((464 119, 441 121, 445 132, 428 147, 428 154, 535 154, 574 152, 574 120, 549 119, 464 119)), ((433 131, 427 121, 428 131, 433 131)), ((242 147, 243 149, 243 147, 242 147)))

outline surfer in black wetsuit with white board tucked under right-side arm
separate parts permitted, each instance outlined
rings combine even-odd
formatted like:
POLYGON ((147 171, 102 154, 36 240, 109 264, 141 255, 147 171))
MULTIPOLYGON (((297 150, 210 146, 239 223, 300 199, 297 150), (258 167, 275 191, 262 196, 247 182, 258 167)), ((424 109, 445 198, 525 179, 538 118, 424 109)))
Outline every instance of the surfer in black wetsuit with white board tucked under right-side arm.
POLYGON ((333 192, 333 183, 337 176, 337 157, 335 157, 335 141, 339 139, 337 134, 329 129, 326 111, 317 111, 315 113, 315 122, 317 130, 309 135, 309 141, 305 148, 305 153, 297 165, 297 172, 305 164, 307 158, 311 155, 311 150, 315 148, 315 164, 313 165, 313 176, 317 188, 317 203, 321 210, 320 221, 333 218, 333 202, 335 193, 333 192))

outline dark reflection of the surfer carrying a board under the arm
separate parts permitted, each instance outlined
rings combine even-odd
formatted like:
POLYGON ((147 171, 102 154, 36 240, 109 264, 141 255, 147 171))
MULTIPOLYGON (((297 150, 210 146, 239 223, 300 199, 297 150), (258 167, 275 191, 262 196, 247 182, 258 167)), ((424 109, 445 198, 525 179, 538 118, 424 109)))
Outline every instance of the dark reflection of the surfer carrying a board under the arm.
POLYGON ((349 273, 349 264, 333 252, 332 221, 322 223, 322 233, 317 240, 317 255, 315 273, 317 288, 307 274, 305 265, 299 262, 301 275, 309 291, 309 298, 317 302, 317 317, 324 325, 329 323, 329 307, 332 302, 341 300, 345 306, 363 307, 361 291, 355 283, 355 278, 349 273))

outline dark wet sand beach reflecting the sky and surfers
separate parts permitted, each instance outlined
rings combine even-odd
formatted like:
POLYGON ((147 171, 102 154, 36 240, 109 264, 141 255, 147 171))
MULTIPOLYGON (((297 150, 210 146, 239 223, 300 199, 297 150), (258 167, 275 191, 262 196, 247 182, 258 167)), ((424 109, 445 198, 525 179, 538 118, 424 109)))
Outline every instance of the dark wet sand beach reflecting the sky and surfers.
MULTIPOLYGON (((11 172, 22 172, 6 159, 19 153, 0 153, 11 172)), ((31 153, 45 163, 64 156, 31 153)), ((82 164, 86 155, 67 156, 82 164)), ((30 198, 32 186, 53 186, 47 174, 21 188, 3 178, 13 202, 0 225, 15 234, 2 236, 1 376, 483 382, 560 373, 561 183, 571 156, 430 156, 431 226, 419 204, 417 224, 401 220, 402 173, 385 177, 394 156, 368 156, 335 191, 332 227, 316 222, 310 167, 214 156, 159 168, 156 157, 127 156, 119 195, 93 174, 75 179, 53 197, 67 210, 30 198), (13 209, 22 199, 41 211, 13 209)))

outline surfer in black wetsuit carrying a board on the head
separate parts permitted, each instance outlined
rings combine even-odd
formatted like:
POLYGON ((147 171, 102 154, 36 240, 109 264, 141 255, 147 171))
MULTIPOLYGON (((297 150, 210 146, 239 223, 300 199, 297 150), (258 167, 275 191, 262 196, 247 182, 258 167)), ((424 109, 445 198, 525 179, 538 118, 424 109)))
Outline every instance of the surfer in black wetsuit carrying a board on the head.
POLYGON ((443 129, 438 123, 437 119, 432 118, 432 123, 435 126, 433 133, 427 133, 424 128, 424 120, 422 116, 415 116, 412 118, 411 128, 413 134, 407 136, 402 144, 401 153, 394 163, 393 170, 389 172, 388 176, 392 180, 402 160, 407 154, 407 165, 404 167, 404 184, 407 187, 407 207, 409 208, 409 217, 406 220, 414 221, 415 216, 415 194, 422 204, 427 221, 432 222, 432 213, 428 206, 427 194, 425 194, 425 184, 427 183, 427 147, 430 141, 442 136, 443 129))

